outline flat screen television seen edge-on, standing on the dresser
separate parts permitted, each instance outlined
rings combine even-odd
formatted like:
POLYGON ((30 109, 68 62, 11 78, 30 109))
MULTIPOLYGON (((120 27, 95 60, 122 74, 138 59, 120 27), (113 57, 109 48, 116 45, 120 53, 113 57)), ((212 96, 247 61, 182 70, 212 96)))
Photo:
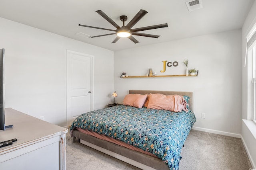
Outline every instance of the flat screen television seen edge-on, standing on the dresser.
POLYGON ((13 127, 13 125, 5 125, 4 115, 4 49, 0 49, 0 130, 13 127))

